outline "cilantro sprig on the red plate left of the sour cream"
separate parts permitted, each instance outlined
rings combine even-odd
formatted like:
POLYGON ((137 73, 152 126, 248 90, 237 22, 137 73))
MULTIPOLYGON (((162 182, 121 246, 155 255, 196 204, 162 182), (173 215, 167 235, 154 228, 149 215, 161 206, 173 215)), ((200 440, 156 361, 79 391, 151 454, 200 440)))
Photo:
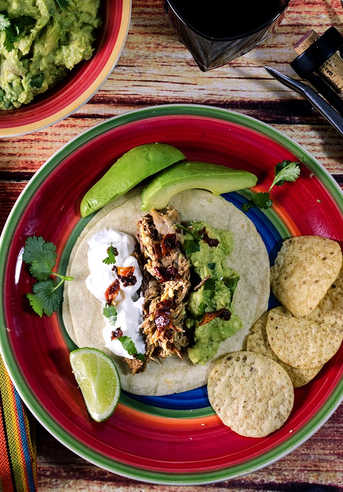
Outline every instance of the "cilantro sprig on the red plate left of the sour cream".
POLYGON ((39 236, 29 236, 26 239, 23 261, 29 265, 30 273, 37 282, 32 286, 32 293, 27 298, 34 312, 40 317, 45 314, 51 316, 60 305, 59 287, 65 281, 72 281, 73 277, 66 277, 52 270, 56 264, 56 246, 46 242, 39 236), (52 277, 56 277, 58 281, 52 277))

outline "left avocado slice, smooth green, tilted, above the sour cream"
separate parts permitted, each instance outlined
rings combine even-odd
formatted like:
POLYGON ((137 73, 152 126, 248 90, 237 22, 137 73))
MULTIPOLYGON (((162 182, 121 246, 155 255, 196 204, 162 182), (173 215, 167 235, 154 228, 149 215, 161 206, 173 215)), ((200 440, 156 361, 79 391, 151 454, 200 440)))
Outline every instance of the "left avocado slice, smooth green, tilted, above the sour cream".
POLYGON ((146 143, 123 154, 84 195, 82 217, 124 195, 149 176, 185 159, 181 150, 164 143, 146 143))

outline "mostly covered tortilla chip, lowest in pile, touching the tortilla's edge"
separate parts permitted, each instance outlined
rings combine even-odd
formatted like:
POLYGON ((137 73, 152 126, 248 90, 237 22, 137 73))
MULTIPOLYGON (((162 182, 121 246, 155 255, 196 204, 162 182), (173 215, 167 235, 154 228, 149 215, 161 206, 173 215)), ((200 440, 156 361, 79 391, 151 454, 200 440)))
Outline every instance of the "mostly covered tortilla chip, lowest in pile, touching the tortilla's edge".
MULTIPOLYGON (((292 317, 292 313, 283 306, 271 309, 269 312, 279 313, 283 316, 292 317)), ((318 367, 306 368, 293 367, 289 364, 286 364, 285 362, 283 362, 283 360, 277 357, 268 341, 266 332, 267 319, 268 312, 262 314, 262 316, 254 323, 251 329, 251 335, 249 335, 247 338, 246 349, 251 352, 265 355, 266 357, 269 357, 270 359, 273 359, 275 360, 275 362, 280 364, 280 366, 282 366, 283 369, 290 376, 294 388, 299 388, 306 385, 318 374, 323 366, 320 365, 318 367)))

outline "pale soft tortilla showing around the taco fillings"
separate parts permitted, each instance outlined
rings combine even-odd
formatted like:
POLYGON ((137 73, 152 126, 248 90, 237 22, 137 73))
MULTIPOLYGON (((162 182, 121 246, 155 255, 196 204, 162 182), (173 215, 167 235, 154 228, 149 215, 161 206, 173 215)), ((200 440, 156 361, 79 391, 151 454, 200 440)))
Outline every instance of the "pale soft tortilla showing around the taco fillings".
POLYGON ((67 275, 74 280, 65 286, 63 319, 76 345, 96 347, 115 360, 124 390, 137 395, 181 393, 205 385, 217 358, 243 349, 251 326, 267 309, 270 293, 268 253, 254 224, 223 197, 204 190, 189 190, 175 195, 170 200, 170 206, 178 211, 182 224, 202 221, 231 233, 233 250, 227 257, 227 266, 239 274, 232 308, 240 318, 241 328, 223 341, 215 357, 205 364, 194 364, 187 351, 184 351, 151 360, 144 371, 133 374, 122 357, 105 347, 102 304, 88 290, 86 279, 89 276, 87 255, 90 238, 106 228, 117 229, 133 238, 137 235, 137 224, 146 215, 140 208, 140 191, 132 190, 105 206, 82 231, 72 250, 67 269, 67 275))

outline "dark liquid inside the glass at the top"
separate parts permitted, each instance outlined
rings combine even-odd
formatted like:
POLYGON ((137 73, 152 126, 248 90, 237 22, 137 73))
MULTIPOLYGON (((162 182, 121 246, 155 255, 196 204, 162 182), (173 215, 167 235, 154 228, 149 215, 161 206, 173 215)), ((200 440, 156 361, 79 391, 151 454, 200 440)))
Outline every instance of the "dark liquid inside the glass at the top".
POLYGON ((235 37, 258 29, 279 12, 280 0, 169 0, 177 13, 208 37, 235 37))

